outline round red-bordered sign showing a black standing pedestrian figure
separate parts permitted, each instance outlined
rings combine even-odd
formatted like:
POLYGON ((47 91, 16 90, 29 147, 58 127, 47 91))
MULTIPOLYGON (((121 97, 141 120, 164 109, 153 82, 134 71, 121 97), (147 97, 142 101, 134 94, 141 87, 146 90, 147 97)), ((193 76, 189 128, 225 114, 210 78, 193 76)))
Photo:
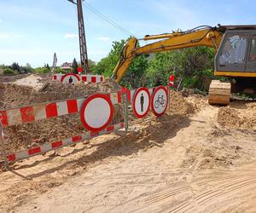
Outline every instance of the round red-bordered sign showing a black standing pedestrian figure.
POLYGON ((137 118, 144 118, 150 107, 150 94, 148 89, 141 87, 137 89, 132 102, 133 112, 137 118))

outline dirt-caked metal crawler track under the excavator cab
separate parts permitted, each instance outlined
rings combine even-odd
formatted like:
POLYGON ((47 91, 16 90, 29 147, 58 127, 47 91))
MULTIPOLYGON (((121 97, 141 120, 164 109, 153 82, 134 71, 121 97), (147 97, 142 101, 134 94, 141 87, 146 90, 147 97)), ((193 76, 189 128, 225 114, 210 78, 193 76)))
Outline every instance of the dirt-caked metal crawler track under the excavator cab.
POLYGON ((208 103, 218 105, 230 104, 231 83, 212 80, 209 89, 208 103))

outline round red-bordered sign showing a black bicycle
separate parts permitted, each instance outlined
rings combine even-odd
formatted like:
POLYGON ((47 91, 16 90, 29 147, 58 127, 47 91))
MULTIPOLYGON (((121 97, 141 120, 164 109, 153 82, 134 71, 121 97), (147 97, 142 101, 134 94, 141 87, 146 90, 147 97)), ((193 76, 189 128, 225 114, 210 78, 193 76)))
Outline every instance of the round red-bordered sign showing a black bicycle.
POLYGON ((155 116, 160 117, 166 112, 168 103, 168 91, 166 87, 159 86, 154 89, 152 98, 151 98, 151 109, 155 116))

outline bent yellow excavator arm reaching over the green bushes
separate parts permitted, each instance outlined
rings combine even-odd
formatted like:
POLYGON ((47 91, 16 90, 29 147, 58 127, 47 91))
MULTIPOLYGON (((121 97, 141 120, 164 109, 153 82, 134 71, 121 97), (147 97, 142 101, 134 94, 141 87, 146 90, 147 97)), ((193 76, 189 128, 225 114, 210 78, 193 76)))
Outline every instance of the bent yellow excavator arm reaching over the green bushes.
POLYGON ((142 47, 137 47, 138 39, 132 37, 121 52, 119 62, 113 70, 112 78, 119 82, 137 55, 151 54, 172 49, 207 46, 218 49, 223 33, 218 27, 204 26, 187 32, 173 32, 154 36, 145 36, 142 40, 160 39, 142 47))

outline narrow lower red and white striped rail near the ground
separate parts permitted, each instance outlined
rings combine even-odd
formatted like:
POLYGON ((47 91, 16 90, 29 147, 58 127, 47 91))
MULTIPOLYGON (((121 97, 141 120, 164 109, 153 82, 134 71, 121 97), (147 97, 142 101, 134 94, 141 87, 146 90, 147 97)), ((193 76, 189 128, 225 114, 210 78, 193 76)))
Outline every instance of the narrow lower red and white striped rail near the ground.
POLYGON ((51 150, 55 150, 57 148, 73 145, 79 141, 90 140, 91 138, 94 138, 96 136, 104 135, 104 134, 113 132, 114 130, 119 130, 122 128, 124 128, 124 123, 111 125, 111 126, 108 126, 105 130, 102 130, 100 132, 86 132, 84 134, 76 135, 76 136, 73 136, 71 138, 68 138, 68 139, 65 139, 62 141, 54 141, 54 142, 50 142, 50 143, 45 143, 44 145, 39 146, 39 147, 33 147, 31 149, 23 150, 18 153, 12 153, 7 156, 7 159, 9 162, 15 162, 17 160, 21 160, 24 158, 30 158, 32 156, 35 156, 35 155, 38 155, 41 153, 47 153, 47 152, 49 152, 51 150))

